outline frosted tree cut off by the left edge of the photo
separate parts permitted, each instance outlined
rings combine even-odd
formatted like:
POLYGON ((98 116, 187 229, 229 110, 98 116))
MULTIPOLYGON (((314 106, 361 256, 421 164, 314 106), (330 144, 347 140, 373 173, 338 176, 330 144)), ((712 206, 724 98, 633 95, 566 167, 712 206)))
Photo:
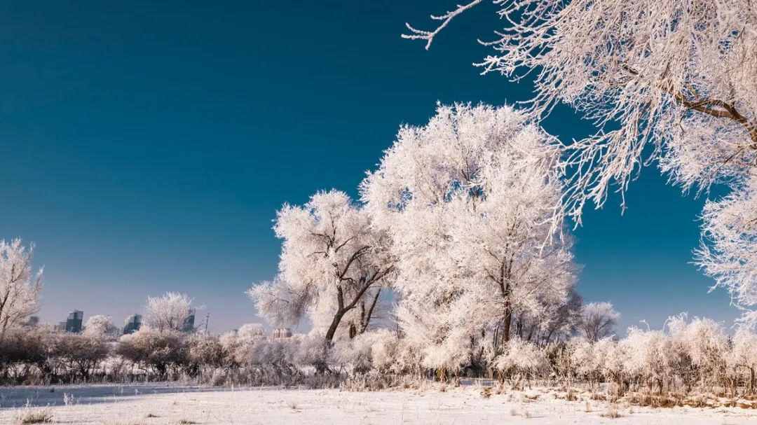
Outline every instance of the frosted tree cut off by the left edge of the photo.
POLYGON ((0 240, 0 340, 9 327, 39 311, 42 269, 32 271, 34 246, 0 240))

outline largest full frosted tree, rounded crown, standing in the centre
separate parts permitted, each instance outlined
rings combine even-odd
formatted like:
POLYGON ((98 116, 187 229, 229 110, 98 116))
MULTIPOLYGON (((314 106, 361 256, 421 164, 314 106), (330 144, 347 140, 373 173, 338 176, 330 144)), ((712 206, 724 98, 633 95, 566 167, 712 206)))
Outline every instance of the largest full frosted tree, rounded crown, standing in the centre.
POLYGON ((472 341, 509 340, 516 312, 565 302, 572 254, 550 233, 548 140, 509 107, 439 106, 426 126, 403 126, 361 184, 397 259, 398 320, 428 367, 465 364, 472 341))

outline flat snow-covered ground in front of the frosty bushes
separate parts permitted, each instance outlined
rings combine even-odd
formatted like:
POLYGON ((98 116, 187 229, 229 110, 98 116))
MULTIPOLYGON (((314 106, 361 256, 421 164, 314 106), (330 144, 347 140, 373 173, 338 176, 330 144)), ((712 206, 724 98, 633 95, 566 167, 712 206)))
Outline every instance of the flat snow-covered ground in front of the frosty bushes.
POLYGON ((55 423, 152 425, 176 423, 757 423, 757 409, 640 408, 566 402, 546 391, 490 398, 476 386, 459 389, 347 392, 338 389, 213 389, 176 385, 0 388, 0 423, 45 410, 55 423), (535 396, 537 399, 531 400, 535 396), (33 407, 23 408, 30 404, 33 407), (182 422, 183 421, 183 422, 182 422))

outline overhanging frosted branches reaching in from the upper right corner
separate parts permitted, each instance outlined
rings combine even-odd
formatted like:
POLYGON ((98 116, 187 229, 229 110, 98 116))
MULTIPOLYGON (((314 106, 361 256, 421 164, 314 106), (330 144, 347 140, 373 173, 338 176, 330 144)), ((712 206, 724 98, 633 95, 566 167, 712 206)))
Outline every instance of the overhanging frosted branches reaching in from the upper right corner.
MULTIPOLYGON (((429 48, 474 0, 408 25, 429 48)), ((757 178, 757 3, 753 0, 494 0, 502 26, 478 64, 515 82, 532 80, 536 119, 573 107, 597 131, 564 144, 568 185, 557 212, 581 223, 587 202, 622 194, 640 168, 657 163, 688 191, 713 183, 735 192, 705 211, 698 262, 734 304, 757 306, 754 201, 757 178), (749 205, 752 204, 752 205, 749 205), (737 215, 733 215, 733 214, 737 215), (751 251, 750 251, 751 250, 751 251), (745 254, 749 254, 746 255, 745 254)), ((491 33, 490 29, 482 31, 491 33)), ((625 200, 622 201, 625 208, 625 200)), ((757 313, 744 323, 757 325, 757 313)))

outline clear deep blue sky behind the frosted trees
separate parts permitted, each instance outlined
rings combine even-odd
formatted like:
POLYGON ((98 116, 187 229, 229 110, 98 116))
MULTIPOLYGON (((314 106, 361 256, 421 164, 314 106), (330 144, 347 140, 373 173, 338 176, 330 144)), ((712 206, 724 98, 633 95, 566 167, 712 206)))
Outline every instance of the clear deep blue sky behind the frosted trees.
MULTIPOLYGON (((276 271, 271 220, 319 189, 352 194, 400 123, 435 102, 502 104, 528 85, 479 76, 485 5, 431 51, 404 22, 454 2, 4 2, 0 5, 0 237, 37 245, 44 321, 117 322, 180 290, 214 331, 256 321, 244 291, 276 271), (118 4, 116 4, 118 3, 118 4), (201 314, 204 314, 201 312, 201 314)), ((553 134, 587 134, 567 108, 553 134)), ((587 301, 622 327, 687 311, 730 324, 690 265, 703 200, 644 169, 577 231, 587 301)))

